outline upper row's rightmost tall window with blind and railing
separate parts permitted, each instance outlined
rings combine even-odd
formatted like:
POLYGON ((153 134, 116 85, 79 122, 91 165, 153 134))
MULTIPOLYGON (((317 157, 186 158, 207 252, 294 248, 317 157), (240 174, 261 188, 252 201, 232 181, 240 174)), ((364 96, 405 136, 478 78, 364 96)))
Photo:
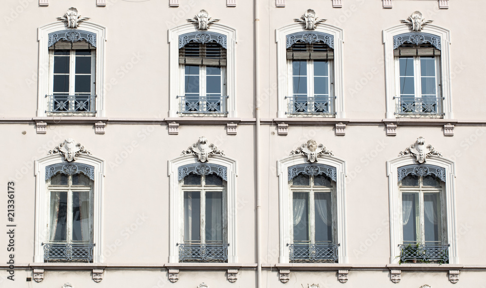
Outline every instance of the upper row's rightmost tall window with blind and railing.
POLYGON ((398 68, 399 115, 442 115, 440 50, 432 45, 401 45, 398 68))

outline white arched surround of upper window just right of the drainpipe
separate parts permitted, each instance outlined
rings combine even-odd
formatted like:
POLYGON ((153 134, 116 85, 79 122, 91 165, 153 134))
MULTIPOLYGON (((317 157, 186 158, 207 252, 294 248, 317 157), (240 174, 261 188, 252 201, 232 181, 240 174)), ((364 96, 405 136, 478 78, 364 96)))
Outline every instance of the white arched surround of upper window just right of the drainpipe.
POLYGON ((344 34, 341 28, 336 26, 321 23, 314 31, 305 31, 302 29, 301 24, 294 23, 276 30, 275 41, 277 42, 277 80, 278 80, 278 118, 285 118, 288 112, 288 104, 285 96, 288 95, 289 85, 292 83, 289 81, 289 69, 287 65, 287 35, 297 32, 322 32, 330 34, 334 37, 334 96, 335 99, 335 112, 336 118, 344 118, 344 83, 343 83, 343 45, 344 34))

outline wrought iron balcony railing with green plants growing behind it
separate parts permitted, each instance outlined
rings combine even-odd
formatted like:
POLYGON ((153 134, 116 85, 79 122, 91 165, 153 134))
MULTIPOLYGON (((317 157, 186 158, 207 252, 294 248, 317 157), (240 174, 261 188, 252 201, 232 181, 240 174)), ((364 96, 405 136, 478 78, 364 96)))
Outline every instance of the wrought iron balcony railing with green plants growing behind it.
POLYGON ((449 263, 449 245, 400 244, 400 263, 449 263))

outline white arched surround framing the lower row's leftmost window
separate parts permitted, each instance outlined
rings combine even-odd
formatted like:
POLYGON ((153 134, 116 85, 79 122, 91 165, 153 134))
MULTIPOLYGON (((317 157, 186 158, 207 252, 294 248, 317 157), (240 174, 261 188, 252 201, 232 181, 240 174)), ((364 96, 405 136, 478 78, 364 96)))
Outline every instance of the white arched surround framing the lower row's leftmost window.
POLYGON ((34 261, 44 262, 42 242, 47 242, 49 231, 49 197, 46 184, 46 167, 52 164, 85 164, 94 167, 93 179, 93 263, 103 263, 103 178, 104 160, 86 154, 76 156, 74 162, 68 162, 64 156, 55 154, 35 161, 35 243, 34 261))

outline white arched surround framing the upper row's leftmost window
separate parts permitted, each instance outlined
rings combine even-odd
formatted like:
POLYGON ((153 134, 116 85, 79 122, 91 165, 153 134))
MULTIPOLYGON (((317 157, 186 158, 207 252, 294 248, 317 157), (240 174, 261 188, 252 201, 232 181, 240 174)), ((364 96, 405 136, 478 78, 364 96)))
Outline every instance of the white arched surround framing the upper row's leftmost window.
POLYGON ((87 31, 96 34, 96 72, 95 72, 95 109, 97 117, 104 117, 104 53, 106 41, 106 28, 92 22, 83 22, 77 29, 68 29, 63 22, 55 22, 42 27, 37 31, 39 42, 39 70, 38 70, 38 96, 37 117, 47 116, 46 110, 49 95, 50 67, 49 67, 49 33, 59 31, 87 31))

